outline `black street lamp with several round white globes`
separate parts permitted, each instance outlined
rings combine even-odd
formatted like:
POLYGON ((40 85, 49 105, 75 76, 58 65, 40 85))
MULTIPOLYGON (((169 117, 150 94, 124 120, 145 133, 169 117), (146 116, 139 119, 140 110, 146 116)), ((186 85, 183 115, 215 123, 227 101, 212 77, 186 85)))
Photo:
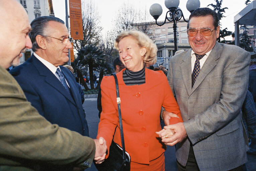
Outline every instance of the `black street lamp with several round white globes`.
MULTIPOLYGON (((179 3, 180 3, 179 0, 165 0, 164 4, 165 4, 166 8, 169 9, 169 11, 167 11, 166 16, 165 16, 165 20, 162 24, 157 23, 157 19, 159 18, 159 16, 163 12, 163 9, 162 9, 161 5, 156 3, 156 4, 151 5, 151 7, 149 9, 150 14, 156 20, 157 25, 159 25, 159 26, 164 25, 166 20, 168 20, 170 22, 173 21, 174 52, 177 51, 177 35, 176 35, 177 21, 179 21, 181 18, 183 18, 183 20, 185 22, 188 22, 184 18, 184 15, 183 15, 181 9, 178 7, 179 3), (169 13, 170 17, 167 17, 168 13, 169 13)), ((199 0, 188 0, 186 7, 187 7, 187 10, 191 13, 195 9, 200 7, 200 1, 199 0)))

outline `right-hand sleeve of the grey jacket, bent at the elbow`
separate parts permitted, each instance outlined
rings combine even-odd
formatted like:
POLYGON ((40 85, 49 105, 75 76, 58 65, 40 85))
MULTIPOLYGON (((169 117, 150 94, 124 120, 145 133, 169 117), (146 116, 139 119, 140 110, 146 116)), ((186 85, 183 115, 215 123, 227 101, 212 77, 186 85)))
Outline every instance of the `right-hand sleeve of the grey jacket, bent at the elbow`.
MULTIPOLYGON (((237 53, 239 54, 238 51, 237 53)), ((250 54, 246 51, 236 56, 225 56, 220 99, 194 118, 184 122, 192 144, 201 141, 223 128, 240 113, 249 80, 250 54)))

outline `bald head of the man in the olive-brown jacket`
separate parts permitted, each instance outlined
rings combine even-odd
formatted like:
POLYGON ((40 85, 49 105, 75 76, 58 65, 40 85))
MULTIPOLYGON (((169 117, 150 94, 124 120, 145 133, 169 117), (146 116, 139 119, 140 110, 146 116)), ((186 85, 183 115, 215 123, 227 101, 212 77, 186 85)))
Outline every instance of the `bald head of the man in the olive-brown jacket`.
POLYGON ((0 0, 0 65, 18 65, 21 52, 31 48, 27 13, 16 0, 0 0))

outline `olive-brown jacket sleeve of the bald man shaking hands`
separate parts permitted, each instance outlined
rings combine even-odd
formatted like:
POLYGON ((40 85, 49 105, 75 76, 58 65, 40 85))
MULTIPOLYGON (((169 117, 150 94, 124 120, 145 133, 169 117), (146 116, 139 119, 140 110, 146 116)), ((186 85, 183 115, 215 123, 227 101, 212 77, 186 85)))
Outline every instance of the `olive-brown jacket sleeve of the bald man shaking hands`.
POLYGON ((93 139, 48 122, 27 102, 16 80, 1 67, 0 72, 0 154, 9 156, 8 164, 40 161, 90 167, 93 139))

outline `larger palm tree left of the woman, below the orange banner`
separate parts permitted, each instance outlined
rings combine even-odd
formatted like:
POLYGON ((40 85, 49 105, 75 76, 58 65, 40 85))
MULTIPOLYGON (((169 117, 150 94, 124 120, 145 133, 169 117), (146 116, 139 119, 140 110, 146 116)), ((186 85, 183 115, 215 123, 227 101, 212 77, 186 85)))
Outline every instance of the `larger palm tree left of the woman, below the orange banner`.
POLYGON ((81 60, 83 65, 88 64, 89 67, 89 76, 90 76, 90 85, 91 89, 94 89, 93 84, 93 67, 96 67, 99 63, 99 60, 103 60, 103 52, 95 45, 89 44, 85 47, 82 47, 78 53, 77 57, 81 60))

